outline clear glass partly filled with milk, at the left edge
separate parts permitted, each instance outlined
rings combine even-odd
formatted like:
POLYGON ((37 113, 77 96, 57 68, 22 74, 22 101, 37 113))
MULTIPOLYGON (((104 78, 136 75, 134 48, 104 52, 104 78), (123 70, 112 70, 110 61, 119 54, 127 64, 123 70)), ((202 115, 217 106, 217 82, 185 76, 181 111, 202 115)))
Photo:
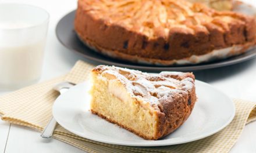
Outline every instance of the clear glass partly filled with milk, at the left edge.
POLYGON ((40 79, 49 14, 24 4, 0 4, 0 90, 40 79))

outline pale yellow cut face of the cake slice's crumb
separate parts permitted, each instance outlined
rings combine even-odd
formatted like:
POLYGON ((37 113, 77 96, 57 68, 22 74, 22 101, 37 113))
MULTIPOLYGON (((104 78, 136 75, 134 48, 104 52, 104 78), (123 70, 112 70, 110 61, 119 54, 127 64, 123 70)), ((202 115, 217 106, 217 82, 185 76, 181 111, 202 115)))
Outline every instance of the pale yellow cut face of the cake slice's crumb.
POLYGON ((125 86, 114 76, 104 77, 94 72, 91 78, 91 111, 94 114, 144 139, 154 139, 157 131, 157 114, 131 97, 125 86))

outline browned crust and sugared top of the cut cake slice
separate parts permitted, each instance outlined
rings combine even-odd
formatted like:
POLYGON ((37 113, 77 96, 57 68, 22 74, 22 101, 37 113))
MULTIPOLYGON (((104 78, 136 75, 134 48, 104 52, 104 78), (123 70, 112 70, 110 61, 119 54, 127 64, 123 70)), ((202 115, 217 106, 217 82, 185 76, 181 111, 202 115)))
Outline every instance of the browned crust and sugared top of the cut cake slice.
MULTIPOLYGON (((146 110, 146 112, 150 111, 152 118, 156 116, 154 134, 148 136, 139 130, 129 128, 124 123, 109 117, 111 115, 104 115, 97 111, 95 106, 91 107, 91 112, 147 140, 158 140, 179 128, 191 114, 197 100, 194 86, 195 78, 191 73, 161 72, 160 74, 147 74, 105 65, 95 67, 92 73, 94 76, 120 82, 133 99, 132 103, 138 104, 137 107, 146 110)), ((118 86, 115 88, 118 88, 118 86)), ((113 95, 115 96, 115 93, 113 95)), ((120 95, 123 94, 120 92, 116 94, 118 99, 123 101, 120 101, 120 103, 125 103, 125 100, 119 97, 120 95)), ((94 103, 102 103, 102 101, 95 97, 92 103, 94 105, 94 103)))

